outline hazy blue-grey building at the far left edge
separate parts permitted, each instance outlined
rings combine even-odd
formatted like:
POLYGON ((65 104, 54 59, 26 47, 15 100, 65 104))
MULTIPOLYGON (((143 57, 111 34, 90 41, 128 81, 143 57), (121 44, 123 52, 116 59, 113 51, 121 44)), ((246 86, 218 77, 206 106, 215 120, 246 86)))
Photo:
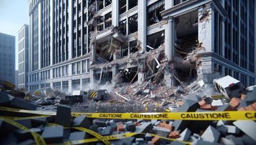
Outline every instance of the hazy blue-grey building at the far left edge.
POLYGON ((15 36, 0 32, 0 79, 15 84, 15 36))

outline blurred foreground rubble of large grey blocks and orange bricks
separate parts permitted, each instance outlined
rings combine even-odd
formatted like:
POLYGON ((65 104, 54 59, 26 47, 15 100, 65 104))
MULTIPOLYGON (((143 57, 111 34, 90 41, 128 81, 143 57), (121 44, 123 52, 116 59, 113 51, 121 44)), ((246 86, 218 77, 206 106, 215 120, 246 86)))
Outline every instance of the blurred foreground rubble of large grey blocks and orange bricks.
MULTIPOLYGON (((150 83, 148 83, 150 86, 150 83)), ((189 96, 179 107, 178 112, 205 111, 256 111, 256 86, 246 88, 246 94, 233 97, 229 103, 215 106, 211 97, 189 96)), ((145 91, 144 91, 145 92, 145 91)), ((36 110, 36 105, 13 97, 6 91, 0 92, 0 106, 36 110)), ((31 116, 24 113, 0 111, 1 144, 35 144, 31 132, 40 135, 47 144, 71 142, 95 138, 92 132, 102 136, 129 134, 132 137, 109 139, 112 144, 256 144, 256 122, 252 120, 211 121, 211 120, 141 120, 103 119, 71 116, 71 107, 58 105, 56 116, 31 116), (3 117, 4 116, 4 117, 3 117), (9 116, 9 117, 6 117, 9 116), (17 118, 22 116, 24 118, 17 118), (26 116, 31 116, 30 118, 26 116), (16 117, 16 118, 13 118, 16 117), (8 120, 8 118, 11 120, 8 120), (8 121, 6 121, 8 120, 8 121), (14 127, 13 121, 28 128, 14 127), (71 128, 70 128, 71 127, 71 128), (8 129, 7 129, 8 128, 8 129), (88 131, 88 130, 87 130, 88 131)), ((108 114, 105 114, 108 115, 108 114)), ((187 118, 191 116, 186 116, 187 118)), ((95 135, 95 134, 94 134, 95 135)), ((119 136, 119 137, 120 137, 119 136)), ((99 137, 99 136, 98 136, 99 137)), ((109 137, 111 138, 111 137, 109 137)), ((99 139, 95 143, 103 144, 99 139)))

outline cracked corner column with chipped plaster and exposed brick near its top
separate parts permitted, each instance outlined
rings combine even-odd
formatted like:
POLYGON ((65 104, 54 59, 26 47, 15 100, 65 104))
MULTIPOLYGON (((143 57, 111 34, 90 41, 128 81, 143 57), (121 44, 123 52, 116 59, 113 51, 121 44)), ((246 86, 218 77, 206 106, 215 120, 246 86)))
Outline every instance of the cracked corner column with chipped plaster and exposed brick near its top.
POLYGON ((214 52, 214 11, 211 4, 198 8, 198 42, 204 47, 204 52, 214 52))

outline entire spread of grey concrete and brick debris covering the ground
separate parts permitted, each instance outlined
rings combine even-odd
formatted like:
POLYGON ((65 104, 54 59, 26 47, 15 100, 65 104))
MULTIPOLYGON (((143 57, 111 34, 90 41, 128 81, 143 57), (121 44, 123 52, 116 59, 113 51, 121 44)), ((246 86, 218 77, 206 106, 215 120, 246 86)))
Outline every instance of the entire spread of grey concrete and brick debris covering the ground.
MULTIPOLYGON (((156 50, 156 49, 154 49, 156 50)), ((152 50, 152 51, 154 51, 152 50)), ((141 54, 140 54, 141 55, 141 54)), ((152 60, 155 56, 152 56, 152 60)), ((162 64, 161 60, 156 59, 162 64)), ((148 66, 151 66, 150 64, 148 66)), ((156 69, 157 63, 152 65, 152 70, 156 69)), ((162 67, 162 66, 161 66, 162 67)), ((159 67, 159 69, 161 69, 159 67)), ((132 73, 129 68, 124 69, 125 73, 132 73)), ((136 71, 137 72, 137 71, 136 71)), ((134 75, 136 74, 134 72, 134 75)), ((156 71, 153 71, 156 72, 156 71)), ((138 72, 140 73, 140 71, 138 72)), ((161 72, 160 72, 161 73, 161 72)), ((157 76, 157 72, 155 73, 157 76)), ((147 76, 147 75, 146 75, 147 76)), ((163 77, 163 76, 161 76, 163 77)), ((159 78, 159 80, 163 78, 159 78)), ((134 78, 134 76, 132 76, 134 78)), ((128 112, 207 112, 207 111, 255 111, 255 86, 246 88, 239 97, 221 96, 218 92, 205 93, 209 86, 204 81, 195 81, 193 85, 166 86, 163 82, 156 83, 154 76, 145 79, 141 83, 135 81, 130 83, 117 82, 109 93, 106 90, 87 90, 74 93, 64 93, 50 88, 29 92, 32 99, 17 96, 21 93, 11 93, 10 90, 1 90, 0 106, 14 107, 29 110, 51 110, 56 111, 56 116, 15 120, 17 123, 42 135, 47 144, 61 143, 65 141, 76 141, 77 139, 87 139, 92 135, 66 127, 89 128, 101 135, 118 135, 128 132, 145 133, 127 139, 111 141, 111 143, 126 142, 128 144, 182 144, 178 141, 188 141, 192 144, 255 144, 256 123, 248 121, 189 121, 189 120, 121 120, 107 118, 87 118, 86 116, 73 117, 74 112, 85 113, 128 113, 128 112), (72 95, 74 94, 74 95, 72 95), (108 94, 108 97, 104 95, 108 94), (122 95, 121 95, 122 94, 122 95), (214 96, 214 97, 212 97, 214 96), (99 97, 100 99, 92 99, 99 97), (36 98, 36 99, 35 99, 36 98), (101 99, 102 98, 102 99, 101 99), (106 99, 103 99, 106 98, 106 99), (63 105, 63 101, 68 100, 70 104, 63 105), (37 105, 35 105, 35 103, 37 105), (83 106, 83 107, 82 107, 83 106), (57 123, 58 127, 49 127, 49 123, 57 123), (65 128, 64 128, 65 127, 65 128), (154 137, 156 134, 177 141, 167 141, 161 137, 154 137)), ((110 85, 113 85, 110 83, 110 85)), ((211 86, 213 88, 213 86, 211 86)), ((13 90, 12 90, 13 91, 13 90)), ((19 92, 18 90, 16 90, 19 92)), ((28 93, 25 93, 28 96, 28 93)), ((19 114, 19 113, 15 113, 19 114)), ((13 115, 15 115, 13 114, 13 115)), ((8 116, 4 111, 1 116, 8 116)), ((19 114, 21 115, 21 114, 19 114)), ((13 144, 29 143, 35 144, 32 136, 28 132, 10 127, 0 120, 0 142, 13 144), (6 129, 8 128, 8 130, 6 129), (17 137, 16 135, 19 135, 17 137), (12 140, 12 141, 11 141, 12 140)))

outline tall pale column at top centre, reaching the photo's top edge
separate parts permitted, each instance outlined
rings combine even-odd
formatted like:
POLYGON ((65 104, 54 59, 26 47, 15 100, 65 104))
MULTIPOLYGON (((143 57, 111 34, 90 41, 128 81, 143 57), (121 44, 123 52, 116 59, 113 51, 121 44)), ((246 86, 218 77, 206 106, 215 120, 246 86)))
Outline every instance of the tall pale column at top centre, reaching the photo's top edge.
POLYGON ((138 1, 138 41, 141 52, 145 52, 147 44, 147 0, 138 1))

